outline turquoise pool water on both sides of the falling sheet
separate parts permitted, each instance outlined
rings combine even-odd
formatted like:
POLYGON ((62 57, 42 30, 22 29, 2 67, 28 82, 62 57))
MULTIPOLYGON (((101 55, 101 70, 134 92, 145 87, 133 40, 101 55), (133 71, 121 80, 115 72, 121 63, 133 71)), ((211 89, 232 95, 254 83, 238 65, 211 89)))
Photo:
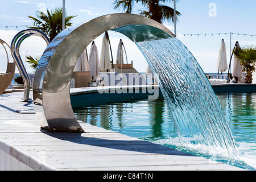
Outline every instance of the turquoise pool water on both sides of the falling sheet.
POLYGON ((256 94, 217 94, 217 98, 236 141, 239 160, 229 160, 218 150, 200 144, 181 144, 164 100, 134 100, 73 110, 77 118, 91 125, 234 166, 255 169, 256 94))

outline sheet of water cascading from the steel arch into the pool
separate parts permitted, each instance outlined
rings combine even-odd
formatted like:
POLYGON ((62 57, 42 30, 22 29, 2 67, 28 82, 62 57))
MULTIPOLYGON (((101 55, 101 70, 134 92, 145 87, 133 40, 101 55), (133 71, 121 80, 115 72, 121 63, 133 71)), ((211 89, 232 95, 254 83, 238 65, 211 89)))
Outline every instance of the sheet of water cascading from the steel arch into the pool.
POLYGON ((221 150, 236 159, 236 146, 220 103, 187 47, 176 38, 136 44, 158 74, 180 142, 221 150))

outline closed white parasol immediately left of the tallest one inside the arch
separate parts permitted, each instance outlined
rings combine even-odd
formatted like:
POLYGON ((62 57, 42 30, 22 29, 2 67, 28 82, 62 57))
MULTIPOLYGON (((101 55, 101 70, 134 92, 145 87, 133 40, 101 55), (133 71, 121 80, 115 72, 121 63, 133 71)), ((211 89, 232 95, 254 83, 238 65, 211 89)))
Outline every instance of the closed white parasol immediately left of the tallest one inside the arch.
POLYGON ((92 43, 92 47, 90 48, 90 55, 89 55, 89 68, 90 68, 90 76, 92 77, 92 81, 96 81, 98 77, 98 72, 100 69, 98 67, 98 49, 96 44, 92 43))

